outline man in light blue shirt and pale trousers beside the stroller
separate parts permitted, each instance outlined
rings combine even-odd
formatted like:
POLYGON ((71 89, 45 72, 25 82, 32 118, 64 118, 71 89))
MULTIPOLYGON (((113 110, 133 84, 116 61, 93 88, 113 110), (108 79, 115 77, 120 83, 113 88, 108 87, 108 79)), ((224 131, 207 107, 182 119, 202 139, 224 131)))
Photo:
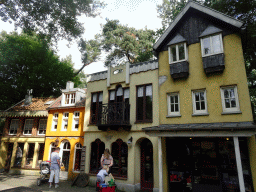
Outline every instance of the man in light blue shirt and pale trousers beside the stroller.
POLYGON ((51 174, 49 179, 49 188, 52 188, 53 176, 55 176, 55 188, 59 187, 59 175, 60 175, 60 148, 55 148, 55 151, 51 154, 51 174))

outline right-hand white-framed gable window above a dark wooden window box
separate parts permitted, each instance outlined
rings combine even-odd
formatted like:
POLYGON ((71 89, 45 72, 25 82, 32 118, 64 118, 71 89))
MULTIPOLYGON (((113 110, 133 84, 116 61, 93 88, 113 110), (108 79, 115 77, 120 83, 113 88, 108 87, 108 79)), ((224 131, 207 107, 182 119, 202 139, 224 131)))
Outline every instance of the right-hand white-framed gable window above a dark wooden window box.
POLYGON ((222 35, 213 35, 201 39, 202 56, 223 53, 222 35))

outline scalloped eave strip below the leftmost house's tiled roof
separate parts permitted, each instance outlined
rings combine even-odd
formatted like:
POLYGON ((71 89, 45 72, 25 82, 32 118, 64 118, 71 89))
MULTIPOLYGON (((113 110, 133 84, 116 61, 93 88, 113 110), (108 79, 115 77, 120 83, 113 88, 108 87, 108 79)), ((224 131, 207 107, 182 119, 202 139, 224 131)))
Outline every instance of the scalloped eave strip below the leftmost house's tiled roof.
POLYGON ((48 111, 11 111, 2 112, 0 117, 48 117, 48 111))

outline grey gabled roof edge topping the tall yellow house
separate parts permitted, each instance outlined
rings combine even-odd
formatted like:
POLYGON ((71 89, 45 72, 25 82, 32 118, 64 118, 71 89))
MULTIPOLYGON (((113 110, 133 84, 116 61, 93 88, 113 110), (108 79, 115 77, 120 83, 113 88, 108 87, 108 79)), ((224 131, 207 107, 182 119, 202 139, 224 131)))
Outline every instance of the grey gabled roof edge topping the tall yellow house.
POLYGON ((179 23, 182 17, 188 12, 189 9, 196 9, 202 13, 211 15, 212 17, 219 19, 223 22, 226 22, 236 28, 241 28, 243 26, 243 22, 230 17, 226 14, 218 12, 214 9, 201 5, 200 3, 189 1, 186 6, 182 9, 182 11, 178 14, 178 16, 174 19, 174 21, 170 24, 170 26, 165 30, 164 34, 157 40, 157 42, 153 45, 153 49, 157 50, 158 47, 162 44, 168 34, 173 30, 173 28, 179 23))

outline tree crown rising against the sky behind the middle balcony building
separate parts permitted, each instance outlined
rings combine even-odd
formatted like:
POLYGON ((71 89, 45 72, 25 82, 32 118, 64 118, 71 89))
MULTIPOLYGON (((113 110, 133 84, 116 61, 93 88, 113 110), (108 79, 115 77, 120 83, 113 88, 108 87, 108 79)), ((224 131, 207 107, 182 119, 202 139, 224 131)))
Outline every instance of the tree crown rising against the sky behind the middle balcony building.
POLYGON ((153 58, 152 47, 155 38, 153 30, 147 28, 138 30, 122 25, 118 20, 107 19, 102 33, 94 40, 87 41, 87 47, 96 57, 99 57, 103 51, 108 53, 105 66, 126 61, 136 63, 153 58))

